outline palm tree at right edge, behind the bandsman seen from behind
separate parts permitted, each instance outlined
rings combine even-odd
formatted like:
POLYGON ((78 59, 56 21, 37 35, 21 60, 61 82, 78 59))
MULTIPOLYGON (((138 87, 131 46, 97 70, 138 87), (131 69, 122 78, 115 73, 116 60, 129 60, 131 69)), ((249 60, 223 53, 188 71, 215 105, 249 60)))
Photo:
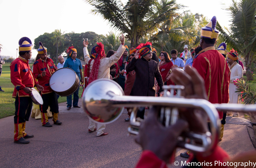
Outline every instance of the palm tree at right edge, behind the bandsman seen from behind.
POLYGON ((238 3, 233 0, 227 9, 230 11, 230 30, 222 28, 217 23, 220 35, 227 43, 237 50, 245 60, 247 80, 253 80, 252 62, 256 59, 256 26, 254 16, 256 14, 256 0, 241 0, 238 3))

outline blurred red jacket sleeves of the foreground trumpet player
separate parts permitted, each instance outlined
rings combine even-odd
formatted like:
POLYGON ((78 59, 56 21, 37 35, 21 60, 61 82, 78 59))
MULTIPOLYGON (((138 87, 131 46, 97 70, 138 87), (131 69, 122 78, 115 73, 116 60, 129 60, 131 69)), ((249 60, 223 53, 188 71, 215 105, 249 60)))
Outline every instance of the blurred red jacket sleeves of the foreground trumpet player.
MULTIPOLYGON (((221 163, 227 162, 228 160, 228 154, 221 147, 216 146, 216 148, 212 151, 212 154, 209 156, 202 156, 201 154, 198 154, 196 157, 190 157, 187 163, 193 162, 195 164, 195 162, 201 162, 206 164, 208 162, 208 165, 201 164, 201 167, 227 168, 227 166, 223 166, 221 163), (210 165, 210 163, 212 165, 210 165)), ((175 164, 177 165, 177 162, 175 162, 175 164)), ((178 162, 177 168, 182 166, 183 165, 181 165, 181 162, 178 162)), ((166 162, 160 160, 152 151, 143 151, 140 156, 140 160, 136 165, 136 168, 167 168, 167 165, 166 162)))

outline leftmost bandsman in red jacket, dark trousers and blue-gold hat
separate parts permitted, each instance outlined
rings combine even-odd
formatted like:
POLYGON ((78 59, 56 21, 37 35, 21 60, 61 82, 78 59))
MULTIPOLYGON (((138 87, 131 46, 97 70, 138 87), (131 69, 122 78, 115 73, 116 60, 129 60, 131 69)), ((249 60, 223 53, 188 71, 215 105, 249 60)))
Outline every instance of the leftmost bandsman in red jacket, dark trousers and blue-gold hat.
POLYGON ((22 37, 19 40, 19 57, 15 59, 11 65, 11 81, 15 86, 12 97, 15 98, 15 116, 14 116, 14 143, 29 143, 27 138, 32 138, 34 135, 26 134, 26 121, 29 120, 32 99, 30 93, 32 87, 37 87, 39 90, 44 90, 40 86, 29 67, 29 59, 32 56, 32 42, 28 37, 22 37))

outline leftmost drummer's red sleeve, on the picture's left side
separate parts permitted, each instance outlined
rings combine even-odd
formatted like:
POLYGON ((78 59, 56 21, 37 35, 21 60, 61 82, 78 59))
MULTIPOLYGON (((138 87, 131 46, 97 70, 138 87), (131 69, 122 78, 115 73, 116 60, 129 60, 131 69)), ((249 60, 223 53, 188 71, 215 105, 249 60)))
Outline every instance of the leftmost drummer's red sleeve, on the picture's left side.
POLYGON ((19 62, 14 62, 13 64, 11 64, 10 70, 11 70, 12 84, 15 86, 15 89, 17 91, 22 90, 25 87, 25 85, 22 84, 22 80, 21 80, 21 77, 20 77, 20 64, 19 64, 19 62))

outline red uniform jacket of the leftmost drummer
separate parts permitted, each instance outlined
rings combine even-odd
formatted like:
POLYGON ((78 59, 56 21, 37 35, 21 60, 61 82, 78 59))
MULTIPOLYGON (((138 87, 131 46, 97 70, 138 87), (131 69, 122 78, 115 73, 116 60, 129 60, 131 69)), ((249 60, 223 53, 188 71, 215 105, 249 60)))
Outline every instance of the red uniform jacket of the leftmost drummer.
POLYGON ((29 94, 23 91, 24 87, 34 87, 38 84, 35 81, 35 77, 32 70, 29 67, 29 62, 19 56, 10 64, 11 70, 11 81, 15 86, 12 93, 12 97, 16 98, 17 94, 19 97, 29 97, 29 94))

